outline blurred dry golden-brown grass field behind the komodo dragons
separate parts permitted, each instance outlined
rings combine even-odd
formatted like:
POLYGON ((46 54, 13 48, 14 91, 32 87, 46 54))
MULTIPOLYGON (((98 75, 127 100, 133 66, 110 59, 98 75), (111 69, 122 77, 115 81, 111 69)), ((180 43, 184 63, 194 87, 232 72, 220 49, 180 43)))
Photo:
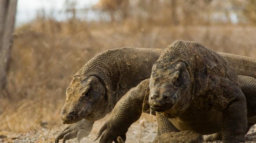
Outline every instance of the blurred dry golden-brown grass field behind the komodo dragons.
MULTIPOLYGON (((219 52, 256 57, 255 33, 256 27, 234 25, 160 27, 136 20, 111 24, 35 20, 15 32, 7 77, 9 97, 0 98, 0 131, 38 130, 44 122, 50 128, 60 127, 59 113, 72 76, 104 50, 122 46, 165 48, 176 39, 184 39, 219 52)), ((155 121, 149 115, 142 118, 155 121)))

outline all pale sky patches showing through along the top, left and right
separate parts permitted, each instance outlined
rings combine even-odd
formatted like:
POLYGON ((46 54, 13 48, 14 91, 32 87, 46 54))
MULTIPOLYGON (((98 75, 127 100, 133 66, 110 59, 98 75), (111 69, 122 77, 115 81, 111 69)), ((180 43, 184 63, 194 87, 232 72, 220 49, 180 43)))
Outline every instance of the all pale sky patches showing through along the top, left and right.
MULTIPOLYGON (((18 0, 17 13, 16 13, 16 26, 29 22, 36 17, 38 11, 44 9, 47 16, 51 15, 56 20, 67 19, 67 14, 64 13, 66 0, 18 0)), ((76 9, 82 9, 95 5, 99 0, 76 0, 76 9)), ((77 17, 86 20, 98 20, 99 16, 95 11, 78 12, 77 17)), ((220 13, 212 15, 212 19, 224 20, 225 16, 220 13)), ((238 23, 238 17, 236 13, 230 13, 229 18, 232 23, 238 23)))

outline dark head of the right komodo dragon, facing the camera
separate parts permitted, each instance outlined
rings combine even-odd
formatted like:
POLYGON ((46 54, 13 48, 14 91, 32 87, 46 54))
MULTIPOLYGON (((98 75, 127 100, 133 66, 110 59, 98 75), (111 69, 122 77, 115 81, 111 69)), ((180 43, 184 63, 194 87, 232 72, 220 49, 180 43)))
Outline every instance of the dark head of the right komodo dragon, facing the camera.
MULTIPOLYGON (((169 64, 171 65, 171 64, 169 64)), ((172 66, 159 62, 154 64, 149 83, 149 105, 168 118, 175 118, 189 107, 193 80, 186 64, 178 61, 172 66)))

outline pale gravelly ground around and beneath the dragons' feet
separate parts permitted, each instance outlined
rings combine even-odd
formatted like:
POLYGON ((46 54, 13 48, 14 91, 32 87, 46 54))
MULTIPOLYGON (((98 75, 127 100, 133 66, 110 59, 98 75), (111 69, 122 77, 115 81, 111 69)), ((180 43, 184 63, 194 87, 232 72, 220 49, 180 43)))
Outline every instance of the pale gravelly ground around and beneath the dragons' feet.
MULTIPOLYGON (((81 143, 98 143, 99 139, 93 142, 96 138, 96 132, 104 123, 104 120, 95 122, 92 133, 83 138, 81 143)), ((64 127, 63 127, 64 128, 64 127)), ((54 143, 54 138, 61 131, 61 129, 50 129, 44 127, 41 130, 33 130, 27 133, 12 133, 0 132, 0 143, 54 143)), ((127 132, 127 140, 125 143, 151 143, 156 137, 157 125, 156 122, 148 122, 145 119, 140 119, 127 132)), ((256 137, 256 125, 254 125, 248 132, 248 136, 256 137)), ((246 143, 256 143, 255 141, 247 141, 246 143)), ((62 140, 60 140, 62 143, 62 140)), ((77 143, 76 139, 66 141, 66 143, 77 143)), ((215 141, 214 143, 222 143, 215 141)))

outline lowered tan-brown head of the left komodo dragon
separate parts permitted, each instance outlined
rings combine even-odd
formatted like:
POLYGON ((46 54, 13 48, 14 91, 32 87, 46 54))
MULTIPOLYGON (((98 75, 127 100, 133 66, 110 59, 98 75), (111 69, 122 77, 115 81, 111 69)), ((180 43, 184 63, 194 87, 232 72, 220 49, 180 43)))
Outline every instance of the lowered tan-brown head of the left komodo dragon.
POLYGON ((74 77, 66 90, 67 98, 60 113, 62 122, 70 124, 83 118, 98 120, 107 109, 105 94, 105 86, 96 76, 74 77))

